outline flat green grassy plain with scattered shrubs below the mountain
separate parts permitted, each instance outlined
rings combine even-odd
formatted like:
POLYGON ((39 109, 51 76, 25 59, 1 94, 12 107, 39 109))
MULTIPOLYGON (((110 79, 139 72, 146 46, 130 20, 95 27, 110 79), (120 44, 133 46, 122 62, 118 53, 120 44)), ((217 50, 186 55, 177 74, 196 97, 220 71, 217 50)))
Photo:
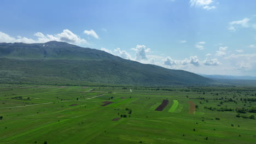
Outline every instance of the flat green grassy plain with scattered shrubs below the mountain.
POLYGON ((0 143, 255 143, 255 98, 255 87, 0 85, 0 143))

